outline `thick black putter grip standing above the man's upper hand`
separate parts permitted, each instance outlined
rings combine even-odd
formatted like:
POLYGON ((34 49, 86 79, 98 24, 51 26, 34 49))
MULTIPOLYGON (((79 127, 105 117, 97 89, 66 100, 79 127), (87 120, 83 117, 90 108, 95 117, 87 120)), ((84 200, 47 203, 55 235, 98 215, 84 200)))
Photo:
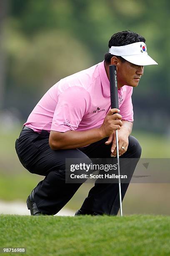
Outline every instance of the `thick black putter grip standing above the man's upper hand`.
POLYGON ((118 100, 118 91, 117 91, 117 72, 116 72, 116 66, 115 65, 110 65, 109 66, 109 73, 110 73, 111 108, 119 109, 119 100, 118 100))

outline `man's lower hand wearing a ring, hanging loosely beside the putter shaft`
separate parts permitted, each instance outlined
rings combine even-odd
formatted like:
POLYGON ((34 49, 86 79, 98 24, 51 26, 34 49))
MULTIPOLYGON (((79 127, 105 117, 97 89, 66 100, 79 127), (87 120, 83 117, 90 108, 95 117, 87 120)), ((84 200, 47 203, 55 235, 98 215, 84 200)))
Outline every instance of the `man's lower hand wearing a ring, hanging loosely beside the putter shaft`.
MULTIPOLYGON (((118 132, 118 145, 119 145, 119 156, 122 156, 127 151, 128 144, 129 144, 129 131, 127 127, 121 126, 120 130, 117 130, 118 132), (122 148, 122 146, 124 148, 122 148)), ((106 145, 109 145, 112 143, 111 147, 111 156, 115 157, 117 155, 117 149, 116 149, 116 133, 115 131, 110 135, 109 139, 105 142, 106 145)))

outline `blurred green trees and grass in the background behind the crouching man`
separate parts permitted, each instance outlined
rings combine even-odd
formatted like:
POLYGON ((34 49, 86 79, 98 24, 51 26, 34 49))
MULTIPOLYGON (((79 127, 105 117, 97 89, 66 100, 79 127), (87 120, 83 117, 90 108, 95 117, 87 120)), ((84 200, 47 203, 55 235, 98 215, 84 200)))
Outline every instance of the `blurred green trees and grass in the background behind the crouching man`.
MULTIPOLYGON (((0 0, 0 198, 25 200, 42 178, 25 172, 14 148, 32 109, 59 79, 102 61, 110 37, 118 31, 144 36, 149 55, 158 62, 145 67, 133 90, 133 132, 143 157, 169 157, 169 25, 169 0, 0 0)), ((145 211, 144 204, 132 206, 136 195, 148 207, 155 205, 150 213, 167 214, 169 184, 147 186, 130 186, 126 212, 145 211), (156 192, 160 198, 153 198, 156 192)), ((76 207, 85 195, 82 190, 73 199, 76 207)))

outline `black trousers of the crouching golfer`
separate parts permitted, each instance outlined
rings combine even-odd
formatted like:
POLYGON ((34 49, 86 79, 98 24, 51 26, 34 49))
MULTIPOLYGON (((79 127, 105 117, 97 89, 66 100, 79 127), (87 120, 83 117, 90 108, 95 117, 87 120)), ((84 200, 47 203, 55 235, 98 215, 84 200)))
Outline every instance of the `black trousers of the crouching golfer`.
MULTIPOLYGON (((22 130, 15 141, 15 149, 21 164, 33 174, 45 176, 35 187, 35 202, 40 212, 55 215, 72 198, 82 183, 65 183, 65 159, 83 158, 86 164, 90 158, 111 158, 110 145, 105 145, 107 138, 84 148, 52 150, 49 146, 49 133, 22 130)), ((141 156, 138 140, 129 136, 128 150, 120 158, 133 158, 133 166, 124 166, 123 173, 135 171, 141 156)), ((115 159, 115 158, 112 158, 115 159)), ((121 184, 122 200, 129 183, 121 184)), ((117 215, 120 208, 117 183, 95 183, 85 198, 81 209, 117 215)))

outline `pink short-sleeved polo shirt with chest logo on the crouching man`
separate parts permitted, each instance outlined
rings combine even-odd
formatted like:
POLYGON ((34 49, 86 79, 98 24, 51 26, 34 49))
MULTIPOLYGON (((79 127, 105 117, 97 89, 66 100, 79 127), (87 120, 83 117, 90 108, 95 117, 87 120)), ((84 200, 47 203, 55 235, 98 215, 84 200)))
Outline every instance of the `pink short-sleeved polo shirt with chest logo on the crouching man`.
MULTIPOLYGON (((118 90, 122 120, 133 121, 133 87, 118 90)), ((37 103, 24 125, 36 132, 99 128, 110 110, 110 83, 104 61, 61 79, 37 103)))

